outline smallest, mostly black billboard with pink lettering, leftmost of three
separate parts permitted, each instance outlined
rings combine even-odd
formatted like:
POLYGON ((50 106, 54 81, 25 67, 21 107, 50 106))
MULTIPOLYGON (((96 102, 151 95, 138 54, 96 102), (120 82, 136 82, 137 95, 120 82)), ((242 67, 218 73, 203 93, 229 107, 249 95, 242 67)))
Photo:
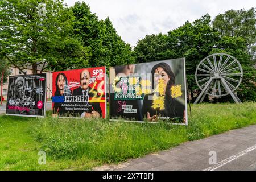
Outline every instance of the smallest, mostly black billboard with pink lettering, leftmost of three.
POLYGON ((46 73, 9 77, 6 115, 44 117, 45 104, 46 73))

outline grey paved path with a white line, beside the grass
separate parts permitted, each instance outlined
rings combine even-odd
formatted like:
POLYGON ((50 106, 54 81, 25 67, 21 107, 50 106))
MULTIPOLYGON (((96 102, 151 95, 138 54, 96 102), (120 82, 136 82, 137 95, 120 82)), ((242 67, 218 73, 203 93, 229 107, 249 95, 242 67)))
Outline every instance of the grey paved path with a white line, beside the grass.
MULTIPOLYGON (((212 161, 212 160, 211 160, 212 161)), ((256 171, 256 125, 185 142, 170 150, 130 159, 94 170, 254 170, 256 171), (215 151, 217 164, 209 164, 215 151)))

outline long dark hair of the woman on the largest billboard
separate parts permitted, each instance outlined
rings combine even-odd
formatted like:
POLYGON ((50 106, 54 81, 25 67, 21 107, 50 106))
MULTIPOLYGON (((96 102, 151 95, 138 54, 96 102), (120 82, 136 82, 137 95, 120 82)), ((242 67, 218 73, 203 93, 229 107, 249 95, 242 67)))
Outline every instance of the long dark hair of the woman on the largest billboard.
POLYGON ((158 63, 154 65, 154 67, 151 69, 151 75, 152 75, 152 89, 155 87, 155 80, 154 80, 154 74, 156 68, 163 68, 163 70, 167 73, 167 75, 170 77, 170 80, 168 81, 166 85, 166 94, 168 96, 171 96, 171 86, 175 84, 175 75, 174 72, 172 72, 171 67, 166 63, 158 63))

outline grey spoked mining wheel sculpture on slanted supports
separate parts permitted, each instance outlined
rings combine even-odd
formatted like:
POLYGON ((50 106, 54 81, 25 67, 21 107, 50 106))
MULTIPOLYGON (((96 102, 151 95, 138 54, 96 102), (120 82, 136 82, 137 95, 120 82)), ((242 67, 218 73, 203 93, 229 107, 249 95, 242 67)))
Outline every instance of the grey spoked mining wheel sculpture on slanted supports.
POLYGON ((194 104, 202 102, 206 94, 223 97, 230 94, 241 103, 234 91, 241 84, 243 70, 239 61, 226 53, 214 53, 205 57, 196 68, 196 84, 201 89, 194 104))

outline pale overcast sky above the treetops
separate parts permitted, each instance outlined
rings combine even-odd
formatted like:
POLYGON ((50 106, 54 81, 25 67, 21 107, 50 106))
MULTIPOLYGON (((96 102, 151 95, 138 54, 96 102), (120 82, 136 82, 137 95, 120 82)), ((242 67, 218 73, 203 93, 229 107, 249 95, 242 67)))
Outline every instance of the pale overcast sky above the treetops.
MULTIPOLYGON (((64 0, 68 6, 76 0, 64 0)), ((99 19, 109 16, 121 38, 136 46, 138 40, 150 34, 166 34, 186 20, 193 22, 205 14, 213 18, 226 10, 248 10, 256 7, 255 0, 85 0, 90 11, 99 19)))

